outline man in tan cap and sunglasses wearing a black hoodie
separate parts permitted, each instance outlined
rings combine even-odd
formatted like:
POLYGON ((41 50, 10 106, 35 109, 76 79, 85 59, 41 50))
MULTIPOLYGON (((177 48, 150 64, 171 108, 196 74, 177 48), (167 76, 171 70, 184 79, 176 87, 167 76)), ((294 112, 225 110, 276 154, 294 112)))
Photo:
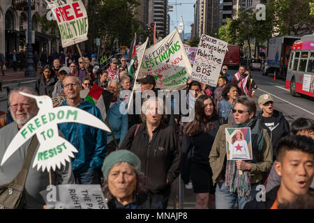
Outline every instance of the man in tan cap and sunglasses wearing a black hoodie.
POLYGON ((257 118, 262 123, 262 127, 267 130, 271 138, 273 146, 273 161, 276 160, 277 148, 276 142, 285 137, 290 132, 289 123, 285 120, 283 113, 274 109, 274 98, 268 93, 260 95, 258 105, 262 112, 257 115, 257 118))

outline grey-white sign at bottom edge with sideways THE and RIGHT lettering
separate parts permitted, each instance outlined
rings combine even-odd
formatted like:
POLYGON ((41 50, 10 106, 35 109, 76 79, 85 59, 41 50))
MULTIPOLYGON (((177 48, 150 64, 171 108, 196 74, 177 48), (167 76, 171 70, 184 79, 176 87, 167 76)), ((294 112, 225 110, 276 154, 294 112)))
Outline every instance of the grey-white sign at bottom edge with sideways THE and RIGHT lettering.
POLYGON ((49 209, 108 209, 100 185, 48 185, 40 195, 49 209))

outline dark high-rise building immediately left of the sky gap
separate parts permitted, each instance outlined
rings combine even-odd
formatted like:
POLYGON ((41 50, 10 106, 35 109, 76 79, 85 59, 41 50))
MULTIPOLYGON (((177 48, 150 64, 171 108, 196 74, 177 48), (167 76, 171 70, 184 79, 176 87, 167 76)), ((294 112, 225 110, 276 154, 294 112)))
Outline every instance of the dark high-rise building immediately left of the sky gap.
POLYGON ((148 24, 156 22, 156 33, 157 36, 162 38, 168 34, 168 13, 167 0, 151 0, 149 1, 149 10, 148 10, 148 24))

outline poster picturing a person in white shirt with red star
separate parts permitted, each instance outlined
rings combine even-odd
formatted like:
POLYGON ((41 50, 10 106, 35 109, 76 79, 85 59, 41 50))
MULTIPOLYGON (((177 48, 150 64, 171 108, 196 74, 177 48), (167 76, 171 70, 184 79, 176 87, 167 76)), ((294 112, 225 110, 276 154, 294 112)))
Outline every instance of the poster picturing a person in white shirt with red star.
POLYGON ((227 160, 252 160, 251 128, 225 128, 227 160))

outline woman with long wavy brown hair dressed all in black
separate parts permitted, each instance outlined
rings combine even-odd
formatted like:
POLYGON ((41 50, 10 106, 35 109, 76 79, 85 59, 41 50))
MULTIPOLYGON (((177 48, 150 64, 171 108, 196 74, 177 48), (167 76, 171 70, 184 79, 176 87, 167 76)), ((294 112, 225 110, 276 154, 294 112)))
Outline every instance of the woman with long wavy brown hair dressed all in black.
POLYGON ((184 128, 182 141, 184 183, 192 180, 196 194, 196 209, 215 208, 215 188, 213 173, 208 157, 219 128, 214 101, 209 95, 200 95, 195 102, 195 118, 184 128))

